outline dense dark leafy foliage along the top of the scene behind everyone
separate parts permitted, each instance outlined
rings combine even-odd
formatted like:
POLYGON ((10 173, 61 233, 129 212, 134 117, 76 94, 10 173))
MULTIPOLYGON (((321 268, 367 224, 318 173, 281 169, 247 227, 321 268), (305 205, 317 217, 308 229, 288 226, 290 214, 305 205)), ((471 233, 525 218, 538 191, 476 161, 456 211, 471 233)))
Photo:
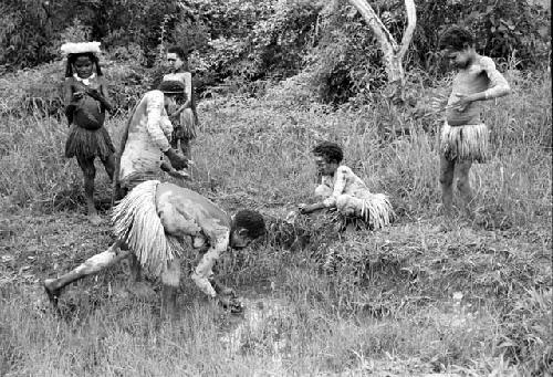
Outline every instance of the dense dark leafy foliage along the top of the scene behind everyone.
MULTIPOLYGON (((399 40, 403 2, 371 4, 399 40)), ((323 101, 343 103, 386 78, 374 35, 346 0, 7 0, 0 11, 0 72, 58 59, 65 41, 100 40, 109 57, 142 67, 158 66, 167 44, 182 45, 200 91, 255 92, 305 70, 323 101)), ((550 9, 534 1, 425 0, 417 13, 408 70, 441 72, 439 32, 452 23, 471 28, 479 51, 518 69, 550 55, 550 9)))

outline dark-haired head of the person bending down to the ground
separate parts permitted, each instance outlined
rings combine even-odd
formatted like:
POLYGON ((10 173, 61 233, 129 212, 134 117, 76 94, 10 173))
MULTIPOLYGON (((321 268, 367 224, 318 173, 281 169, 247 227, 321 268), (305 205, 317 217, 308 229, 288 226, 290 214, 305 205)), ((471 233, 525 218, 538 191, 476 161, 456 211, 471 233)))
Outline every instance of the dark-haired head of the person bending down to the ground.
POLYGON ((242 249, 264 233, 263 217, 257 211, 241 210, 232 218, 229 243, 232 249, 242 249))

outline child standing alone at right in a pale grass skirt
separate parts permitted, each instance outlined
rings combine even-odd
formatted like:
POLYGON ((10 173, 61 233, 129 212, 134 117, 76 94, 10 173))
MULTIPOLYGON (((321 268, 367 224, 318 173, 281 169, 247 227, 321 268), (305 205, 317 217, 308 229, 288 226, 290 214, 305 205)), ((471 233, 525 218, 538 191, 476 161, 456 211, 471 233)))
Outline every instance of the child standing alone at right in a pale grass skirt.
POLYGON ((446 106, 440 143, 442 202, 449 217, 455 170, 458 172, 457 188, 470 212, 473 200, 469 185, 470 167, 473 161, 484 163, 488 157, 488 128, 480 121, 481 102, 504 96, 510 87, 493 61, 477 54, 469 31, 449 28, 441 35, 440 49, 458 70, 446 106))

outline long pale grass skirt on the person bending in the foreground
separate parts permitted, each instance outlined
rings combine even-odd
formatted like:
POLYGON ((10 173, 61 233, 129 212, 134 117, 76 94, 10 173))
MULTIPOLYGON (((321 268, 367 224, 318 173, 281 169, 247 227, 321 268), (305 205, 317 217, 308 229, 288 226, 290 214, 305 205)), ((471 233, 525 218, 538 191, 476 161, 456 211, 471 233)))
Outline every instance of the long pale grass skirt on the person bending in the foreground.
POLYGON ((136 186, 114 209, 112 222, 117 239, 124 241, 143 268, 160 276, 175 258, 186 252, 184 240, 166 234, 157 214, 158 180, 136 186))

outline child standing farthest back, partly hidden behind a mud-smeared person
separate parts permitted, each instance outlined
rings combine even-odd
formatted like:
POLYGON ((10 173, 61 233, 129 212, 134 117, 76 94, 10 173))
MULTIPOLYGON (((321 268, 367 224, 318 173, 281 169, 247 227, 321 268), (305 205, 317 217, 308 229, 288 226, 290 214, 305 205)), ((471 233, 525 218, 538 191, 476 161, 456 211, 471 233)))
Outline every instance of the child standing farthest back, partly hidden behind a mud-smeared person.
POLYGON ((187 56, 179 46, 170 46, 167 50, 167 63, 171 73, 166 74, 163 81, 179 81, 185 84, 184 103, 170 114, 175 127, 173 146, 177 147, 180 143, 184 155, 191 159, 190 142, 196 138, 196 124, 198 123, 192 75, 188 72, 187 56))

